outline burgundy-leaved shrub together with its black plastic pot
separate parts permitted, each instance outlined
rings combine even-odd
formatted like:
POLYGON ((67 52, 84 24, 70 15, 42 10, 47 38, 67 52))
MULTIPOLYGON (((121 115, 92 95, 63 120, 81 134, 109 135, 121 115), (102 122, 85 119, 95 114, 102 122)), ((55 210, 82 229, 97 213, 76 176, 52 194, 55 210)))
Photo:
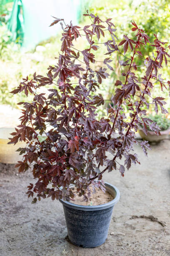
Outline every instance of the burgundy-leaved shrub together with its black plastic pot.
POLYGON ((103 21, 88 11, 85 16, 90 18, 90 25, 84 28, 72 23, 67 25, 58 18, 51 24, 61 24, 61 52, 56 65, 48 67, 47 76, 34 73, 31 79, 23 79, 12 92, 30 93, 33 100, 18 103, 23 105, 23 115, 10 143, 27 143, 25 148, 18 149, 23 160, 16 167, 19 167, 19 172, 30 168, 37 180, 28 186, 28 197, 35 196, 32 202, 46 197, 60 200, 70 241, 78 246, 95 247, 104 243, 107 237, 112 208, 120 196, 116 187, 102 181, 102 176, 118 169, 123 177, 125 168, 129 169, 132 163, 140 164, 137 154, 132 152, 134 143, 140 145, 147 156, 148 142, 135 139, 139 124, 143 124, 146 134, 147 127, 156 134, 160 133, 158 125, 146 117, 144 106, 149 107, 149 95, 156 113, 158 105, 162 113, 167 113, 163 108, 164 98, 153 98, 151 93, 153 81, 160 82, 158 70, 170 55, 164 42, 155 35, 155 41, 150 43, 149 37, 135 22, 132 22, 134 40, 124 35, 117 45, 116 29, 110 18, 103 21), (95 53, 102 45, 100 37, 107 33, 110 37, 103 44, 105 51, 102 49, 103 59, 99 62, 95 53), (85 49, 81 49, 77 42, 82 36, 88 44, 85 49), (153 47, 154 53, 153 57, 145 59, 141 50, 147 44, 153 47), (125 56, 127 50, 131 52, 128 57, 125 56), (113 70, 111 62, 115 51, 120 54, 122 78, 114 85, 115 95, 105 99, 97 93, 97 88, 102 79, 109 76, 107 70, 113 70), (145 59, 143 77, 136 74, 139 58, 145 59), (44 86, 47 86, 49 95, 41 93, 44 86), (107 117, 98 120, 96 111, 105 100, 113 105, 110 104, 107 117), (128 106, 128 116, 124 112, 125 105, 128 106), (115 138, 117 132, 119 136, 115 138), (45 136, 45 139, 40 140, 40 136, 45 136), (95 197, 92 190, 95 192, 98 188, 106 189, 113 199, 95 206, 78 205, 73 201, 76 195, 85 200, 95 197))

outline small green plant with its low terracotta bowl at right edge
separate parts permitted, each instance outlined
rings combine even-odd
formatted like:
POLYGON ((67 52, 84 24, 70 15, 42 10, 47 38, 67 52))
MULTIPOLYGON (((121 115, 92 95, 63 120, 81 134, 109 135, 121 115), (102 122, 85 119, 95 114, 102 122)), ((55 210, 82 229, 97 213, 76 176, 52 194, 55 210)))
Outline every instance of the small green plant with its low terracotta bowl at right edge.
POLYGON ((142 139, 153 142, 153 141, 161 141, 169 138, 170 135, 170 119, 166 118, 163 114, 157 114, 157 115, 148 115, 148 118, 152 120, 154 123, 158 125, 160 128, 160 136, 157 136, 154 131, 151 131, 149 127, 148 128, 148 134, 146 135, 143 132, 143 126, 139 125, 138 132, 142 139))

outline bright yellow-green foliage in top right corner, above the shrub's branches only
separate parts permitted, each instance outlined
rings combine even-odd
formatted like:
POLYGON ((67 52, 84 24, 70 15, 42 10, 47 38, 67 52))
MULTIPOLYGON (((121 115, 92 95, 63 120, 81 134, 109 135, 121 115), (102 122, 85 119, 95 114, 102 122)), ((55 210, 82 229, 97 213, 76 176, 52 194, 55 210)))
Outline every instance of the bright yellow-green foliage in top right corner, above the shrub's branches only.
POLYGON ((170 36, 170 2, 169 0, 91 0, 90 12, 101 15, 102 18, 111 16, 115 26, 119 26, 117 31, 118 39, 123 31, 130 28, 130 22, 135 22, 145 30, 153 40, 153 33, 163 40, 170 36))

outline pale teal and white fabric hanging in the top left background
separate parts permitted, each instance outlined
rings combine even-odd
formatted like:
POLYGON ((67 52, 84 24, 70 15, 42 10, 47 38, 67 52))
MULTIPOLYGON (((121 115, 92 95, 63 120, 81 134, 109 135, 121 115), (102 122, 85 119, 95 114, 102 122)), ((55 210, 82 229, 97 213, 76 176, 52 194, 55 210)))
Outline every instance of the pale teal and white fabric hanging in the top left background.
POLYGON ((77 24, 81 0, 14 0, 8 23, 12 40, 22 44, 23 49, 33 49, 38 43, 57 35, 60 25, 49 27, 54 18, 64 18, 77 24))

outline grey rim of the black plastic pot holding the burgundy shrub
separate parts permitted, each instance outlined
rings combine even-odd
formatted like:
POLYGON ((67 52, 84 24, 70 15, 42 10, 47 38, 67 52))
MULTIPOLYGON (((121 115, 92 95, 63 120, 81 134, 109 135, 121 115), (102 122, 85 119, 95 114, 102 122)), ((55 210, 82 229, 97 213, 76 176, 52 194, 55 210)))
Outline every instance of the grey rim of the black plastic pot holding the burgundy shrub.
POLYGON ((119 201, 120 192, 119 192, 119 189, 117 189, 117 187, 113 186, 112 184, 110 184, 108 182, 105 182, 105 186, 106 186, 106 190, 107 190, 107 188, 108 189, 114 189, 115 193, 116 193, 116 196, 110 202, 107 202, 107 203, 102 204, 102 205, 94 205, 94 206, 76 205, 76 204, 73 204, 72 202, 69 202, 69 201, 65 201, 65 200, 62 200, 62 199, 59 199, 59 200, 63 205, 65 205, 67 207, 70 207, 70 208, 73 208, 73 209, 77 209, 77 210, 95 211, 95 210, 107 209, 107 208, 113 207, 119 201))

